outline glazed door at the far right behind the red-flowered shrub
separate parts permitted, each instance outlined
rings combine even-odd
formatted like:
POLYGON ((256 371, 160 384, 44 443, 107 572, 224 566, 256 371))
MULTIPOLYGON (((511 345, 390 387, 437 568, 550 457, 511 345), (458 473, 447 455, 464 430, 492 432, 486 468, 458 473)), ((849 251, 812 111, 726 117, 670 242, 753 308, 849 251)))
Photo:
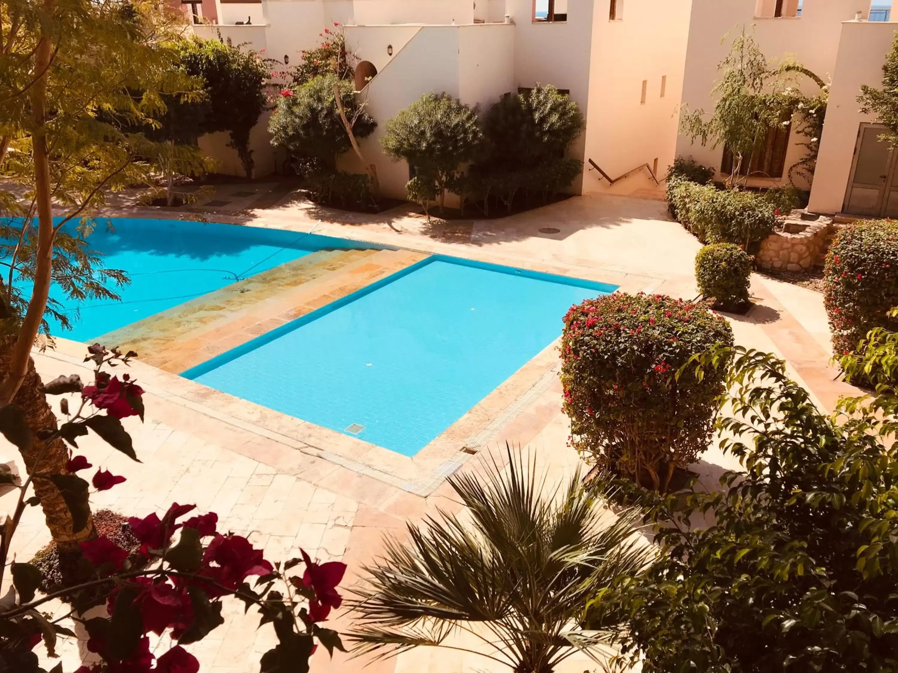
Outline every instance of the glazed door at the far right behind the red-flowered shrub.
POLYGON ((860 126, 845 197, 846 213, 880 216, 898 212, 898 180, 894 179, 898 153, 880 139, 883 131, 881 125, 860 126))

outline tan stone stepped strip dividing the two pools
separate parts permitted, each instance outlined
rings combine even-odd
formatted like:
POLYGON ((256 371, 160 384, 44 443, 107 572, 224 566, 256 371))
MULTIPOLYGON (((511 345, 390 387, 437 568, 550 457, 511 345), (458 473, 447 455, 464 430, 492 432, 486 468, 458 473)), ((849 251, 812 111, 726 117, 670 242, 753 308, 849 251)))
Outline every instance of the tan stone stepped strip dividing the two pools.
POLYGON ((426 257, 409 250, 320 250, 96 341, 180 373, 426 257))

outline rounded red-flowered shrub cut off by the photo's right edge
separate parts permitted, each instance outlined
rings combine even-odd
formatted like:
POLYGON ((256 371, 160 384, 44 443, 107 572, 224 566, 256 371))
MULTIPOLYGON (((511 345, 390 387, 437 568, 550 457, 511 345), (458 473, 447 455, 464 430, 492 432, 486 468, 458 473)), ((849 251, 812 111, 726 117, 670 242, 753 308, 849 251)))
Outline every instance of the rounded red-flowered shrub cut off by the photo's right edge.
POLYGON ((873 328, 898 330, 898 222, 849 224, 832 240, 823 271, 823 302, 832 346, 847 354, 873 328))

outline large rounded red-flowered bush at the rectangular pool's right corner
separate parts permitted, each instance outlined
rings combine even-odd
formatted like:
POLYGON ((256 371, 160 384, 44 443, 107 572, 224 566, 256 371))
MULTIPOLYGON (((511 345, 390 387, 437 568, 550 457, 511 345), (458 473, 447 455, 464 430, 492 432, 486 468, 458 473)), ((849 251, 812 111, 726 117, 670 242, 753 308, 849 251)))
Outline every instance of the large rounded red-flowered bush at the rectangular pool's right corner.
POLYGON ((571 444, 594 464, 665 491, 708 448, 726 367, 699 380, 692 355, 733 345, 725 319, 662 294, 613 293, 572 306, 561 337, 571 444))

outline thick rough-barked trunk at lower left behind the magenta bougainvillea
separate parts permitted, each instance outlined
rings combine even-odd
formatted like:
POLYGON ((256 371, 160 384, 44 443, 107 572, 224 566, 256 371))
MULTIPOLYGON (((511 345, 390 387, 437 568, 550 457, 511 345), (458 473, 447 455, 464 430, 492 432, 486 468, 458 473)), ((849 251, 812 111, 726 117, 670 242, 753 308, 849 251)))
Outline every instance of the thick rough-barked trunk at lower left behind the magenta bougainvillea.
MULTIPOLYGON (((13 354, 13 341, 13 337, 4 337, 0 340, 0 370, 6 369, 9 365, 10 356, 13 354)), ((68 449, 66 449, 65 442, 57 439, 45 443, 37 437, 39 430, 56 430, 57 428, 57 417, 48 405, 47 396, 44 395, 40 387, 40 375, 35 371, 34 361, 29 357, 22 385, 12 400, 15 406, 22 409, 31 430, 31 448, 22 453, 22 460, 30 475, 36 472, 65 475, 68 474, 66 471, 68 449), (43 453, 42 456, 41 453, 43 453), (40 465, 38 464, 39 457, 40 465)), ((57 487, 47 479, 34 479, 32 483, 34 493, 40 498, 40 506, 44 511, 44 518, 47 520, 47 528, 50 530, 53 541, 59 547, 60 557, 66 554, 80 553, 79 544, 84 540, 96 537, 92 517, 88 517, 87 526, 83 530, 73 532, 72 515, 57 487)))

